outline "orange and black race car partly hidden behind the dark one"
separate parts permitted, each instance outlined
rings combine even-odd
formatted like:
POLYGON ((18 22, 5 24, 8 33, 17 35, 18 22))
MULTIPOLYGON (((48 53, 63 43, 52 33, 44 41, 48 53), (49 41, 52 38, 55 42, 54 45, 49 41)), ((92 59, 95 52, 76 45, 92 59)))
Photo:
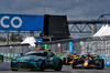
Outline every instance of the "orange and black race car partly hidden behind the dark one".
POLYGON ((66 54, 66 58, 63 58, 63 64, 69 65, 73 63, 73 59, 79 59, 79 54, 66 54))

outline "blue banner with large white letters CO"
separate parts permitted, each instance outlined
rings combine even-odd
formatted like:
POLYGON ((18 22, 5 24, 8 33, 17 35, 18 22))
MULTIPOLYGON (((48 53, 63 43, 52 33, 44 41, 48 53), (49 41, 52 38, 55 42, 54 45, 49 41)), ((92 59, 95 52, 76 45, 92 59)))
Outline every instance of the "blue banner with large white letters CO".
POLYGON ((44 14, 2 14, 0 30, 43 31, 44 14))

